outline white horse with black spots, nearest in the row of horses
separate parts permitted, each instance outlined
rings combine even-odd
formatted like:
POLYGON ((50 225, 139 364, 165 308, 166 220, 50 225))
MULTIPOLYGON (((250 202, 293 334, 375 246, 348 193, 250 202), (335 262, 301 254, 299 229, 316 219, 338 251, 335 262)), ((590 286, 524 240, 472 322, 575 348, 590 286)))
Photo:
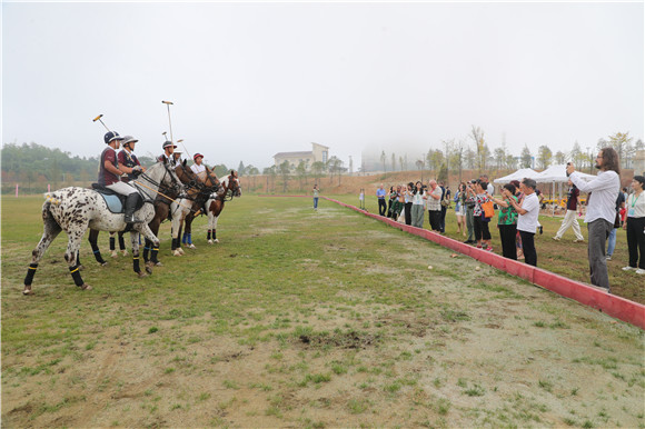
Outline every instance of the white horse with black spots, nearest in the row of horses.
MULTIPOLYGON (((145 198, 143 206, 137 210, 136 216, 143 222, 135 223, 130 233, 132 241, 132 260, 135 271, 139 276, 139 233, 143 233, 153 243, 159 246, 159 239, 150 231, 148 222, 155 216, 152 200, 159 186, 179 184, 177 176, 165 163, 158 162, 150 167, 147 172, 138 179, 132 180, 130 184, 139 189, 145 198)), ((49 245, 58 237, 60 231, 68 235, 67 251, 64 259, 69 265, 69 271, 75 280, 76 286, 82 290, 91 289, 79 272, 78 251, 81 239, 88 228, 100 231, 122 231, 127 225, 122 213, 112 213, 108 209, 103 198, 95 190, 87 188, 63 188, 44 194, 47 200, 42 204, 42 223, 43 232, 40 242, 31 252, 31 263, 24 278, 23 295, 32 295, 31 283, 38 262, 49 248, 49 245)))

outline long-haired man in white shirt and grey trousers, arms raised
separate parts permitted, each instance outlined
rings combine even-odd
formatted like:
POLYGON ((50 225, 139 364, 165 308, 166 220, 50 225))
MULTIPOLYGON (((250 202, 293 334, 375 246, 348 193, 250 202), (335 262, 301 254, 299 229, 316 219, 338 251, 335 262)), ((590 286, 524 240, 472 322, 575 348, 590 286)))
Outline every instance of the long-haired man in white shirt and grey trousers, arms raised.
POLYGON ((598 174, 589 182, 584 181, 569 162, 567 173, 580 192, 589 193, 585 223, 589 232, 589 275, 592 285, 609 290, 605 249, 616 219, 616 198, 621 191, 621 162, 613 148, 603 148, 596 157, 598 174))

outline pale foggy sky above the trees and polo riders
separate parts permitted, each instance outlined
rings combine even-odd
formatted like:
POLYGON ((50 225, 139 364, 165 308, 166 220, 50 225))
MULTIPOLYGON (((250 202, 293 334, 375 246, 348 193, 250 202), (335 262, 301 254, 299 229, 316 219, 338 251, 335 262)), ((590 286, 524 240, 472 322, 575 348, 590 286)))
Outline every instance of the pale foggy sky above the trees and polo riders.
POLYGON ((280 151, 409 153, 480 127, 583 150, 644 134, 643 2, 2 3, 2 143, 98 156, 103 113, 137 153, 210 164, 280 151))

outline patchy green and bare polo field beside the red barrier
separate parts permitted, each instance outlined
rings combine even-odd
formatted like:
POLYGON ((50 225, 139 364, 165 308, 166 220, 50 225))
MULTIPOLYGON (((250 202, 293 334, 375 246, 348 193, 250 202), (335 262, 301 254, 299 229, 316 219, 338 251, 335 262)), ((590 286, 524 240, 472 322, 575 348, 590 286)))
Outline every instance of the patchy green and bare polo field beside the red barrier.
POLYGON ((85 243, 86 292, 59 237, 22 297, 41 203, 2 200, 4 427, 645 427, 642 330, 337 204, 166 223, 145 279, 85 243))

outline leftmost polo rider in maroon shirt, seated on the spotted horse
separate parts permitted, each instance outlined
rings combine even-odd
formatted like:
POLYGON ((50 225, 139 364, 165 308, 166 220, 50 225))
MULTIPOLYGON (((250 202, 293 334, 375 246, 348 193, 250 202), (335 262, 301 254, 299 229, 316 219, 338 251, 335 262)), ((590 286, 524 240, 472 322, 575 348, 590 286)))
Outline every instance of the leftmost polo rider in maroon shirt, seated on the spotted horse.
POLYGON ((135 208, 141 196, 133 187, 129 186, 126 182, 120 180, 120 176, 123 173, 132 173, 132 172, 141 172, 142 169, 140 166, 136 166, 133 168, 119 166, 119 161, 117 159, 117 149, 119 149, 119 144, 122 137, 119 136, 116 131, 109 131, 103 137, 103 140, 108 147, 103 150, 100 157, 99 163, 99 184, 106 187, 117 193, 126 196, 126 223, 140 223, 139 219, 135 218, 135 208))

